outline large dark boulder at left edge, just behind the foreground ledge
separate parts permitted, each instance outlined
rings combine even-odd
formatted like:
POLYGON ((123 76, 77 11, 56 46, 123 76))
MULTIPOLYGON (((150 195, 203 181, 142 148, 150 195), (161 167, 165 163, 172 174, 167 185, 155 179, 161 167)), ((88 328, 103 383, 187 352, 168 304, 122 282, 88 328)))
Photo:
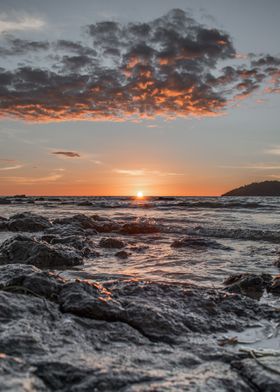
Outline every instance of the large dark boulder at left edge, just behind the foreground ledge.
POLYGON ((54 247, 35 238, 18 235, 0 247, 0 265, 31 264, 40 268, 73 267, 82 256, 69 247, 54 247))

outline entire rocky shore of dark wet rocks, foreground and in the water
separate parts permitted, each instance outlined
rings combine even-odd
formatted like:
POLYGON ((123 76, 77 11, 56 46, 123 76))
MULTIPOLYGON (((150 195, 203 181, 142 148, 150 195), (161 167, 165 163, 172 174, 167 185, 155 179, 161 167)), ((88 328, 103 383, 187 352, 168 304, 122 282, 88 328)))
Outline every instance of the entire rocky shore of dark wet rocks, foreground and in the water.
POLYGON ((66 279, 61 271, 99 252, 131 257, 124 235, 158 227, 23 213, 0 219, 0 230, 11 234, 0 246, 1 391, 279 391, 280 309, 257 300, 279 298, 278 276, 235 274, 221 289, 66 279))

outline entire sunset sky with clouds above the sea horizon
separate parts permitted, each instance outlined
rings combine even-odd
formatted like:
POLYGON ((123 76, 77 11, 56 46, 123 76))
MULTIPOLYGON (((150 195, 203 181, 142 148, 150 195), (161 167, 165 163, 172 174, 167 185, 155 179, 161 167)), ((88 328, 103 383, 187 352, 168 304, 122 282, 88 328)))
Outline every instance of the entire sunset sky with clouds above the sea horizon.
POLYGON ((0 0, 0 195, 280 179, 279 0, 0 0))

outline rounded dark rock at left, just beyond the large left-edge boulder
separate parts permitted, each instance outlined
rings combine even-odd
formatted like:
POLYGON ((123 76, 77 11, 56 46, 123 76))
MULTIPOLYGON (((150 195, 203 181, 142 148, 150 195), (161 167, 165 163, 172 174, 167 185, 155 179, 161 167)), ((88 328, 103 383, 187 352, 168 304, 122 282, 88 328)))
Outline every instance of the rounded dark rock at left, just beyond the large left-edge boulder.
POLYGON ((43 231, 50 226, 48 219, 30 212, 13 215, 8 221, 10 231, 36 232, 43 231))

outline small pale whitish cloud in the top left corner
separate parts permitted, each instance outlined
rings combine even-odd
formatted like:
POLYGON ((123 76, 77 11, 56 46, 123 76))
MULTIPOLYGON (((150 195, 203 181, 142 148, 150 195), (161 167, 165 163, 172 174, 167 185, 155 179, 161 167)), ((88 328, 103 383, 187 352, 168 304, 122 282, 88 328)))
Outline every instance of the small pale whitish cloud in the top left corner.
POLYGON ((4 31, 39 30, 45 26, 43 19, 27 14, 9 16, 0 14, 0 33, 4 31))

